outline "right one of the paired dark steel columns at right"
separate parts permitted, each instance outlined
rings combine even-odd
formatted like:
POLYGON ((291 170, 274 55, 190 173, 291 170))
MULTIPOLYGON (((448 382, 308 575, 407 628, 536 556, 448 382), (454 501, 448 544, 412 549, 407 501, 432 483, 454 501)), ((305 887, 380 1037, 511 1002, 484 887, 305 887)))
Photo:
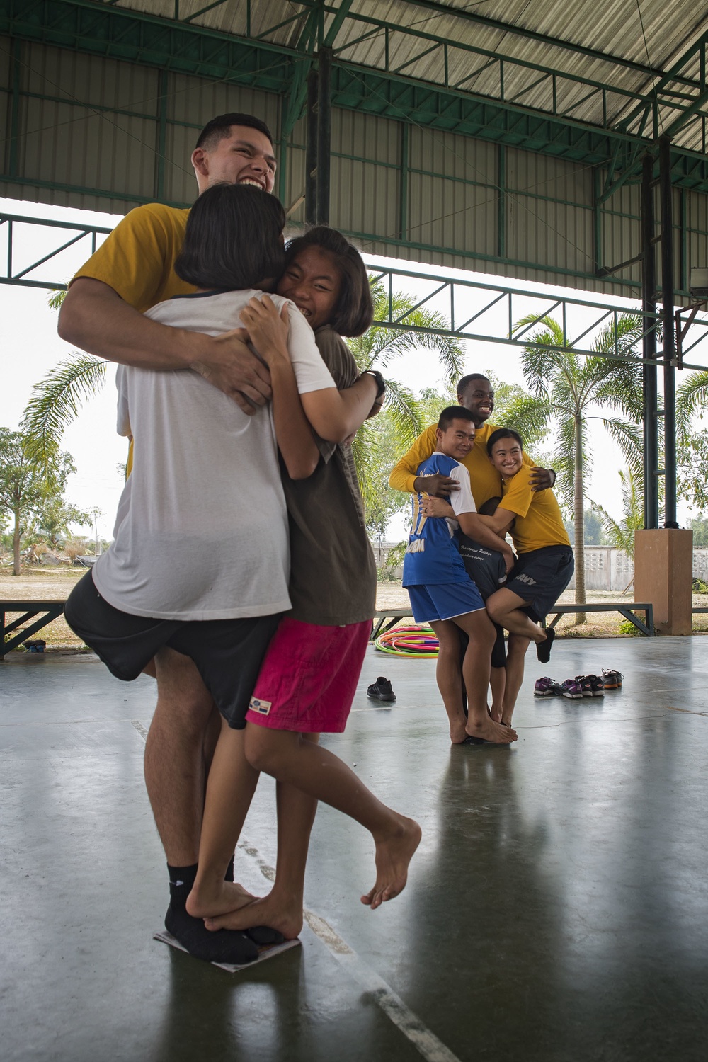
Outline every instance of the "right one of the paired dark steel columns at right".
POLYGON ((661 202, 661 319, 663 330, 664 527, 676 527, 676 333, 674 327, 674 225, 671 140, 659 140, 661 202))

